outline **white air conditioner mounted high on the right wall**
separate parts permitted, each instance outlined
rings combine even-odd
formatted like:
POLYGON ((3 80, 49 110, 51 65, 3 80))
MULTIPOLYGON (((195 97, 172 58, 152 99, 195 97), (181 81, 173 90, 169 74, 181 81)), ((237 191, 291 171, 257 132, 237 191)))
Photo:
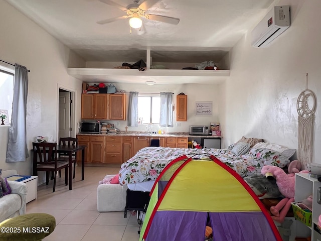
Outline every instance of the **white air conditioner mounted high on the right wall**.
POLYGON ((290 27, 290 6, 275 6, 253 29, 253 47, 266 47, 290 27))

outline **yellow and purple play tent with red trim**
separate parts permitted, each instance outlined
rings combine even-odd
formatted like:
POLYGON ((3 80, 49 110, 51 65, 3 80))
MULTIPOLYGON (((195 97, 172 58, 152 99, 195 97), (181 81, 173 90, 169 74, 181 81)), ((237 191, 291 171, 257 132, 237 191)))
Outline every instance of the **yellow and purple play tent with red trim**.
POLYGON ((214 241, 282 240, 252 189, 214 156, 182 156, 162 171, 139 240, 203 241, 209 219, 214 241))

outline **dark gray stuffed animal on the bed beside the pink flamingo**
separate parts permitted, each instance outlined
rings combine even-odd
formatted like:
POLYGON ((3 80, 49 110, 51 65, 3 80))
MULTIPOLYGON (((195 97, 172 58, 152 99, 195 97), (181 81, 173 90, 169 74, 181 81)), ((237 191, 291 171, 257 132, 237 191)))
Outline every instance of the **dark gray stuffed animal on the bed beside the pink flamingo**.
POLYGON ((281 195, 275 179, 267 179, 260 173, 246 176, 244 181, 249 184, 259 199, 278 198, 281 195))

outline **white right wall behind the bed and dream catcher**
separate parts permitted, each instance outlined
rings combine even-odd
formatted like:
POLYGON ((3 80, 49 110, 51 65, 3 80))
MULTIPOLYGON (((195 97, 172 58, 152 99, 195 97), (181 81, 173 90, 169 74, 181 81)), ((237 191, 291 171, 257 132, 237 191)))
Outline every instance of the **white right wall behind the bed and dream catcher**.
POLYGON ((248 33, 230 54, 231 75, 220 86, 225 93, 219 110, 223 146, 245 136, 297 149, 296 100, 308 73, 308 89, 317 98, 313 160, 321 163, 321 1, 284 0, 277 5, 290 5, 290 28, 268 48, 251 47, 248 33))

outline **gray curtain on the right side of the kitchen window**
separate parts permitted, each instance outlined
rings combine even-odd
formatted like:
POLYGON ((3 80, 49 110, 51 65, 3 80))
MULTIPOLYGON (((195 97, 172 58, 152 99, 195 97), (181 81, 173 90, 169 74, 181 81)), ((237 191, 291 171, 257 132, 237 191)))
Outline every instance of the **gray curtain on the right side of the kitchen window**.
POLYGON ((160 127, 173 127, 173 94, 161 92, 161 118, 160 127))

